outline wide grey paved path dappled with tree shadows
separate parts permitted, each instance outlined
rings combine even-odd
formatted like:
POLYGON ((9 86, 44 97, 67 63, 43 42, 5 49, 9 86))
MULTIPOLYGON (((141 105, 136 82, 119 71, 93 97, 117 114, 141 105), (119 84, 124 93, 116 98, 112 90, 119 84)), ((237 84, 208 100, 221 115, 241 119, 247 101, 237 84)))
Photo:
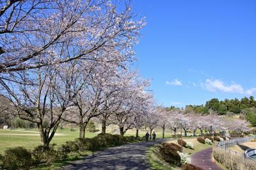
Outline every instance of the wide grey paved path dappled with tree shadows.
MULTIPOLYGON (((156 141, 156 143, 161 142, 163 140, 156 141)), ((84 157, 83 160, 72 162, 72 164, 61 169, 150 169, 146 151, 149 146, 156 143, 141 142, 108 148, 84 157)))

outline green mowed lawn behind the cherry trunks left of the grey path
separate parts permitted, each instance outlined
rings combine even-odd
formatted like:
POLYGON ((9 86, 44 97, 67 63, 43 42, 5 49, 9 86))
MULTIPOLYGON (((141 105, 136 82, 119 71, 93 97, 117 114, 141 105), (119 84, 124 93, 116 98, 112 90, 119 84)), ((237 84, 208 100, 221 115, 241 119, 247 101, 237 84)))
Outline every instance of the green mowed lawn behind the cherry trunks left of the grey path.
MULTIPOLYGON (((100 129, 100 127, 97 127, 97 129, 100 129)), ((140 130, 139 135, 143 136, 145 135, 147 131, 146 130, 140 130)), ((86 132, 86 137, 94 137, 95 135, 98 135, 100 132, 92 133, 92 132, 86 132)), ((107 133, 111 134, 119 134, 119 130, 117 127, 108 127, 107 133)), ((162 137, 161 130, 156 131, 157 137, 162 137)), ((127 130, 127 133, 125 135, 136 135, 136 130, 127 130)), ((170 137, 171 133, 166 132, 166 137, 170 137)), ((61 144, 66 143, 66 141, 74 141, 79 137, 79 130, 76 128, 74 131, 71 131, 70 128, 63 128, 58 129, 56 132, 56 135, 54 135, 51 144, 56 144, 57 147, 61 146, 61 144)), ((40 145, 40 135, 36 128, 33 129, 23 129, 23 128, 17 128, 14 130, 6 130, 6 129, 0 129, 0 153, 3 153, 4 150, 8 148, 13 148, 17 146, 23 146, 25 148, 28 148, 32 150, 36 146, 40 145)))

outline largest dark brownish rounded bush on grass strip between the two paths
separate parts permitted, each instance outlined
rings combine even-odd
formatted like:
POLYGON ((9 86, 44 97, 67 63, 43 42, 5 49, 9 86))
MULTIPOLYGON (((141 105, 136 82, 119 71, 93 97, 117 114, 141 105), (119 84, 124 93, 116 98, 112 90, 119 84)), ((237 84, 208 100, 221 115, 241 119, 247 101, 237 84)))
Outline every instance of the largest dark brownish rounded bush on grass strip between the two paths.
POLYGON ((172 148, 166 148, 163 146, 159 149, 159 153, 166 162, 170 164, 180 165, 180 155, 172 148))

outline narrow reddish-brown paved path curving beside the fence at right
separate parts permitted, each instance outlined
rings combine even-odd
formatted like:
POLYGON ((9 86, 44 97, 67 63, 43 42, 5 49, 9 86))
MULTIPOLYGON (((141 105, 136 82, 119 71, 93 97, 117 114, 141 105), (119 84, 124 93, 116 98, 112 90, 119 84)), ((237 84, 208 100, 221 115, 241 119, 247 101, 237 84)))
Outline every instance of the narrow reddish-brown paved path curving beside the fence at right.
POLYGON ((198 151, 192 155, 191 164, 205 170, 221 170, 222 168, 213 162, 212 148, 198 151))

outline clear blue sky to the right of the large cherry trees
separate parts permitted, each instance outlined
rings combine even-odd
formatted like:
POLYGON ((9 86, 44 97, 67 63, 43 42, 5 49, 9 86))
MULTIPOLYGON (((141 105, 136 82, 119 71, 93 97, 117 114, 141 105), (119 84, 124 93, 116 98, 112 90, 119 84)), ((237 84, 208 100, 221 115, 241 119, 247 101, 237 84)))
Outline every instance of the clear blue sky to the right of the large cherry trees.
POLYGON ((134 0, 147 19, 138 68, 158 104, 183 107, 256 93, 256 1, 134 0))

